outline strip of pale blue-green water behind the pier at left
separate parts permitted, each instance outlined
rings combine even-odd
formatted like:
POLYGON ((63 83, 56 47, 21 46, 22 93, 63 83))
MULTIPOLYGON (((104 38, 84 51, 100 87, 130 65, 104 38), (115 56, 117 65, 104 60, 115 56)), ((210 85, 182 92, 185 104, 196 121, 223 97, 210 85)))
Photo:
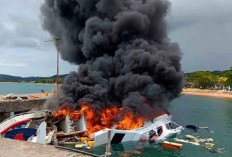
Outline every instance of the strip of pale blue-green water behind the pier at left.
POLYGON ((3 83, 0 82, 0 95, 6 94, 32 94, 40 93, 41 90, 51 92, 55 88, 53 84, 36 84, 36 83, 3 83))

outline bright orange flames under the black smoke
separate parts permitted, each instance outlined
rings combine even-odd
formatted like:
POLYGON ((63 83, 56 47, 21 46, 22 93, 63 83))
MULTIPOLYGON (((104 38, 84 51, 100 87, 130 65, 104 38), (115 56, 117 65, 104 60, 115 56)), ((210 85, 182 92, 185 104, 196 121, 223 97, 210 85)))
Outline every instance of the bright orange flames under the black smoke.
POLYGON ((80 110, 73 110, 69 106, 65 106, 58 111, 54 111, 53 117, 62 120, 69 115, 71 120, 77 121, 84 114, 88 129, 85 135, 112 127, 120 130, 132 130, 143 126, 143 117, 135 116, 133 112, 127 110, 121 112, 123 108, 106 108, 101 113, 97 113, 89 106, 87 103, 83 103, 80 110))

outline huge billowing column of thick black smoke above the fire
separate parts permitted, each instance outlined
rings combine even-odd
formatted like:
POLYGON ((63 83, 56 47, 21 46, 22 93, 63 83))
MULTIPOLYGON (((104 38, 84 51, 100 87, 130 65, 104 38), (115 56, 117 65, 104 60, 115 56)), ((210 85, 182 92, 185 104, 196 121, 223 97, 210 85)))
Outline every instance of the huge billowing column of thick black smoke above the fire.
POLYGON ((178 44, 167 37, 166 0, 45 0, 43 27, 60 37, 61 56, 79 65, 64 101, 119 106, 142 116, 166 110, 183 86, 178 44), (151 110, 155 108, 156 111, 151 110))

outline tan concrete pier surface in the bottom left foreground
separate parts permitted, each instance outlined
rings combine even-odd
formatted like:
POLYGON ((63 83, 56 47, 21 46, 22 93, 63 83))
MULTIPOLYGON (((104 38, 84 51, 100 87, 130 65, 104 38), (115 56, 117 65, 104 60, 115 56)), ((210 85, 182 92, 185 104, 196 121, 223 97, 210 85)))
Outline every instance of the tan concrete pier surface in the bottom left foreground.
POLYGON ((61 150, 50 145, 35 144, 0 138, 1 157, 88 157, 76 152, 61 150))

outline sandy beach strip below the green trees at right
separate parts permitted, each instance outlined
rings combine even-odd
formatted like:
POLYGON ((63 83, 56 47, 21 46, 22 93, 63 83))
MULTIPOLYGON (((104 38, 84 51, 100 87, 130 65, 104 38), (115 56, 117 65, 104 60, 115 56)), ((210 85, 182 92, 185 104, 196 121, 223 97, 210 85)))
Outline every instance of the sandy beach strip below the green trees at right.
POLYGON ((196 88, 184 88, 182 90, 183 95, 195 95, 195 96, 207 96, 217 97, 232 100, 232 92, 222 90, 207 90, 207 89, 196 89, 196 88))

